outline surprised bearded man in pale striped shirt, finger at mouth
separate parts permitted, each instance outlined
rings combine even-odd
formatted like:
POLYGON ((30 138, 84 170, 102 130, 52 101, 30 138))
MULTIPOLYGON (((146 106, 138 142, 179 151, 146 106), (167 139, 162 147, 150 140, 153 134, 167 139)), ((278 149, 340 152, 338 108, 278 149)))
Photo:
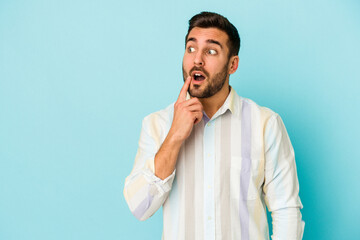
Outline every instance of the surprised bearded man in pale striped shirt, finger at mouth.
MULTIPOLYGON (((223 16, 189 21, 177 101, 143 121, 124 195, 145 220, 163 206, 163 239, 301 239, 294 152, 281 118, 229 85, 240 38, 223 16)), ((149 238, 150 239, 150 238, 149 238)))

